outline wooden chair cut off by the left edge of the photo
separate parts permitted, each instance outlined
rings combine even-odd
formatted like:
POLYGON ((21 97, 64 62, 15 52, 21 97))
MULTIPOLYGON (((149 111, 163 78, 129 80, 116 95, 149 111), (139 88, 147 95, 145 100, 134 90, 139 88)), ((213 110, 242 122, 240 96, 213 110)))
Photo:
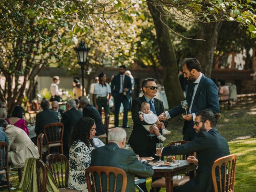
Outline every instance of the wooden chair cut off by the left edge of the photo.
POLYGON ((0 142, 0 174, 6 175, 7 185, 0 186, 8 187, 8 191, 10 192, 10 178, 8 171, 8 144, 6 142, 0 142))

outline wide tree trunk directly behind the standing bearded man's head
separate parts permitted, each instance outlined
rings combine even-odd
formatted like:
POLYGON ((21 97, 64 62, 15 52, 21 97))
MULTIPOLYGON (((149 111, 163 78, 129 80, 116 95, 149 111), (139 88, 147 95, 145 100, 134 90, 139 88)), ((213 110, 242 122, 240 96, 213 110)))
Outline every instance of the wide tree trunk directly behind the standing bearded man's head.
POLYGON ((212 66, 214 65, 214 50, 217 45, 221 25, 222 22, 198 23, 197 38, 204 39, 205 41, 196 41, 194 57, 200 62, 202 73, 208 78, 211 77, 212 66))

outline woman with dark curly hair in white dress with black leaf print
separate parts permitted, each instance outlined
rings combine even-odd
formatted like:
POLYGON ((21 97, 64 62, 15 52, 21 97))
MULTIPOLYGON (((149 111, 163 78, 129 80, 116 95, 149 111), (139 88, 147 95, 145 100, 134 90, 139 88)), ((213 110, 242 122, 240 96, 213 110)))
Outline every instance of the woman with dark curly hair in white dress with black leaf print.
POLYGON ((91 163, 94 150, 92 138, 96 134, 95 121, 83 117, 76 122, 70 136, 68 188, 87 192, 85 170, 91 163))

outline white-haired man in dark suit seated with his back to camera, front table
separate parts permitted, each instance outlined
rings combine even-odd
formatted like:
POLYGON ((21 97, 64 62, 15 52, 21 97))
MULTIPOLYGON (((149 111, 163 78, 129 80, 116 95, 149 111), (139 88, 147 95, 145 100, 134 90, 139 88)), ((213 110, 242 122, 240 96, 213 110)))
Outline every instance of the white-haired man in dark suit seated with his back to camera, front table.
MULTIPOLYGON (((142 159, 138 160, 134 151, 124 149, 126 143, 126 131, 123 128, 113 128, 108 132, 109 144, 96 148, 91 154, 90 166, 110 166, 121 168, 126 172, 127 186, 126 192, 135 192, 134 177, 151 177, 154 174, 152 167, 142 159)), ((99 180, 96 177, 96 186, 99 186, 99 180)), ((122 182, 117 182, 116 191, 121 191, 122 182)), ((109 186, 113 191, 113 186, 109 186)), ((102 191, 107 191, 106 186, 102 186, 102 191)))

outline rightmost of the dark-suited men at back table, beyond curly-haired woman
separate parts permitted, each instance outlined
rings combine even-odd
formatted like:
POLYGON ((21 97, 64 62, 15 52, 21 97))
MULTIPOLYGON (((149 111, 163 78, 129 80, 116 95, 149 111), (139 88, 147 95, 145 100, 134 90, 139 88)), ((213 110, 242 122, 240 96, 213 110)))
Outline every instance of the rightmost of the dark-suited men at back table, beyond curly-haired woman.
POLYGON ((81 97, 80 98, 80 106, 83 109, 84 117, 90 117, 95 120, 95 124, 96 124, 96 134, 95 135, 99 136, 99 135, 105 134, 106 129, 105 129, 104 124, 102 123, 100 113, 94 106, 90 105, 88 98, 81 97))

